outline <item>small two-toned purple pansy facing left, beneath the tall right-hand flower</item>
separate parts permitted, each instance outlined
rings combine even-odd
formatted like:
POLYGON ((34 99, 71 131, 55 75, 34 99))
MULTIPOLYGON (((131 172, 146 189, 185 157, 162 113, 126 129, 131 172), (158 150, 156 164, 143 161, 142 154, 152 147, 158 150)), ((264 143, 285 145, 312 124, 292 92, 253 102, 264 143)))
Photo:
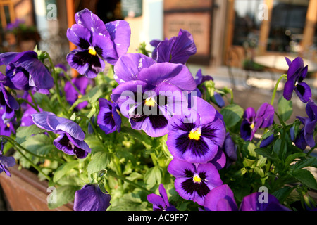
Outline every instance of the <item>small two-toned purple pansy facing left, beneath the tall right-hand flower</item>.
POLYGON ((249 107, 244 111, 240 134, 245 141, 251 141, 257 129, 266 128, 273 124, 274 108, 268 103, 263 103, 255 113, 254 108, 249 107))

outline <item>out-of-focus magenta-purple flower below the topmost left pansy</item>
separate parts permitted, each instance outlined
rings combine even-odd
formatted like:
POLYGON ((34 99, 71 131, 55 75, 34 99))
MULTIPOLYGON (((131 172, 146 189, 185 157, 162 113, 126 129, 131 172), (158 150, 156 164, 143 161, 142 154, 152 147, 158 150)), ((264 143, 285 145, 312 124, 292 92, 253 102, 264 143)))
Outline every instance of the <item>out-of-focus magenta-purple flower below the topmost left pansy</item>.
MULTIPOLYGON (((76 89, 73 87, 70 82, 66 82, 64 90, 65 90, 65 96, 66 101, 70 103, 70 105, 73 105, 75 101, 77 101, 78 98, 82 98, 86 94, 86 89, 89 84, 89 78, 87 77, 75 77, 72 79, 73 84, 77 87, 78 91, 80 91, 81 94, 79 94, 76 89)), ((77 110, 81 110, 82 108, 85 108, 88 105, 87 101, 84 101, 82 103, 79 103, 76 106, 77 110)))

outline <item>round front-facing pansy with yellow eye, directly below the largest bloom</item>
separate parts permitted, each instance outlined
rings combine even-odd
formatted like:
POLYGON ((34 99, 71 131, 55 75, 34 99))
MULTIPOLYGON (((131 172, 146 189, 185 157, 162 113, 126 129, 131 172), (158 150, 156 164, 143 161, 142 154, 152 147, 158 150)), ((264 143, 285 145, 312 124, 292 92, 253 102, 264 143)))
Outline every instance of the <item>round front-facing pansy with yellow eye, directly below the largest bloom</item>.
POLYGON ((212 160, 225 141, 220 113, 204 99, 193 97, 195 107, 175 115, 168 126, 166 144, 174 158, 192 163, 212 160))

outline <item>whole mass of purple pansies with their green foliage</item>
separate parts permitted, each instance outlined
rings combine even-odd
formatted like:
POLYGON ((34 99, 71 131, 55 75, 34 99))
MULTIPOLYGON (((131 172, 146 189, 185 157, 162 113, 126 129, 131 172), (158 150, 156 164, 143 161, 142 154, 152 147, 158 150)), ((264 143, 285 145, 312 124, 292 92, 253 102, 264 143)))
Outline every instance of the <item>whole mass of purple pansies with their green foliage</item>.
POLYGON ((271 103, 244 110, 231 89, 187 68, 197 51, 187 30, 128 53, 125 20, 104 24, 85 9, 75 22, 67 37, 77 49, 66 60, 78 77, 38 49, 0 54, 0 172, 10 176, 15 160, 34 167, 63 190, 49 207, 68 200, 77 211, 292 210, 293 191, 314 207, 307 196, 317 184, 305 168, 317 165, 317 108, 302 58, 286 59, 278 109, 275 88, 271 103), (288 124, 293 91, 307 117, 288 124))

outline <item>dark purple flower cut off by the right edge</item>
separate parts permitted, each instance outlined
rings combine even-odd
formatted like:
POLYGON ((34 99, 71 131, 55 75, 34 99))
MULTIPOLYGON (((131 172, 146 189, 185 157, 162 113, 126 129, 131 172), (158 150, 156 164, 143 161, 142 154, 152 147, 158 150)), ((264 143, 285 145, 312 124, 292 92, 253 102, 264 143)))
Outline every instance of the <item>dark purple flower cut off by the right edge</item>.
POLYGON ((317 105, 311 100, 306 104, 306 114, 308 117, 297 118, 304 124, 303 135, 307 145, 313 148, 316 145, 313 134, 317 124, 317 105))

